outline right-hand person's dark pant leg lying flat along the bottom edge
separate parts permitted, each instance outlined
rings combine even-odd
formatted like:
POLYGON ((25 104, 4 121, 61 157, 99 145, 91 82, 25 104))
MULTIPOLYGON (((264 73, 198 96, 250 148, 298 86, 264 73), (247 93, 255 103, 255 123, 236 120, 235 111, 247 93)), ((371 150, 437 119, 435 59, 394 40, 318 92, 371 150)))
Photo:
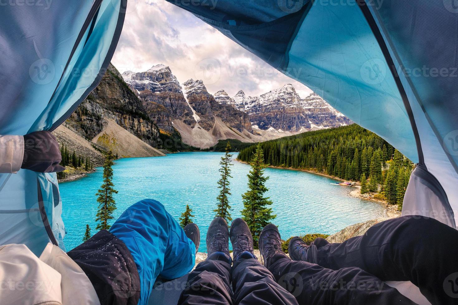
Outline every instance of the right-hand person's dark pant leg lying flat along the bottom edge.
POLYGON ((299 304, 415 304, 397 289, 360 268, 331 270, 281 256, 269 270, 299 304))

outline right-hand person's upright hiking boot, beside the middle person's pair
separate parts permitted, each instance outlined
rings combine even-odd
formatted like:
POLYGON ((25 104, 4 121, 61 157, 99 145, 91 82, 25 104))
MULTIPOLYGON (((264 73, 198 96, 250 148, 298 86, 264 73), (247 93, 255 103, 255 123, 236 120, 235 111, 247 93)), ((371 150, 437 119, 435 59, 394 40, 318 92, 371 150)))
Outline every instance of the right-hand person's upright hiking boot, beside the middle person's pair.
POLYGON ((288 258, 282 250, 282 241, 276 225, 268 224, 262 229, 259 235, 259 251, 266 268, 269 268, 278 258, 288 258))

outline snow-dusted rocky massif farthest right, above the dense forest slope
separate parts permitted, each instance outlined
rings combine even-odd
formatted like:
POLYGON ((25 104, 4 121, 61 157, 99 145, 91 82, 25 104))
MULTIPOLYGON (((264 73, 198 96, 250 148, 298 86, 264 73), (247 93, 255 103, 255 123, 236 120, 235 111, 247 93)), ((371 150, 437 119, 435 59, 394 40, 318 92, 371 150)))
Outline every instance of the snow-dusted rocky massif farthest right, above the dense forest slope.
POLYGON ((352 123, 315 93, 301 99, 291 84, 261 96, 246 96, 241 90, 232 98, 221 91, 215 96, 246 112, 255 129, 301 132, 352 123))

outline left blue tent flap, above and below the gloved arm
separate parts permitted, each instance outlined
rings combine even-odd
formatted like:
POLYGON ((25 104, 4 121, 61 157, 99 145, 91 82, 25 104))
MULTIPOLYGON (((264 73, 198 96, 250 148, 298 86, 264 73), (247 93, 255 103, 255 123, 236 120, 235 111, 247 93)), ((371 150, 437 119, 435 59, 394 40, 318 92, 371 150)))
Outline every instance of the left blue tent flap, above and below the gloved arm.
MULTIPOLYGON (((92 91, 113 56, 126 0, 2 5, 0 134, 52 130, 92 91), (65 22, 63 22, 65 21, 65 22)), ((0 243, 64 248, 56 174, 0 174, 0 243)))

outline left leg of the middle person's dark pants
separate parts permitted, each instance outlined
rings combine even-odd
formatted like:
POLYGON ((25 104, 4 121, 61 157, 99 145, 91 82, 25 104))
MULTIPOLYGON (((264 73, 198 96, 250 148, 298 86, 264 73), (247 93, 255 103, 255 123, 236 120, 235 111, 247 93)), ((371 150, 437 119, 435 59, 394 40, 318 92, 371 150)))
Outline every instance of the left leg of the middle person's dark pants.
POLYGON ((178 305, 233 304, 230 288, 231 264, 227 257, 222 256, 214 253, 214 257, 200 262, 189 273, 188 283, 181 293, 178 305))

